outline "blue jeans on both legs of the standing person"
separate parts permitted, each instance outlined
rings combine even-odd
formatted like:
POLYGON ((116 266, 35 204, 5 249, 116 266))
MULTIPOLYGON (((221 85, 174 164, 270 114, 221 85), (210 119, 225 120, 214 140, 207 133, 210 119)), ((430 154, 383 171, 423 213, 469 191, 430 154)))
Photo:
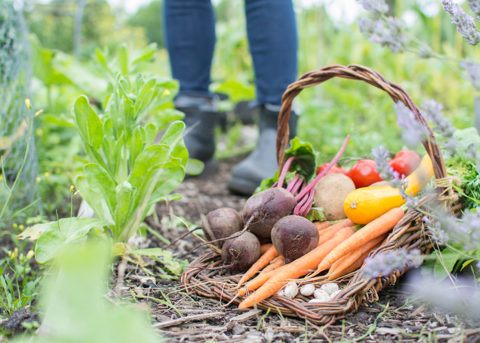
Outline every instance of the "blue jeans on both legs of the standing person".
MULTIPOLYGON (((211 0, 165 0, 165 36, 180 94, 210 96, 215 47, 211 0)), ((259 104, 281 103, 297 76, 297 29, 291 0, 245 0, 259 104)))

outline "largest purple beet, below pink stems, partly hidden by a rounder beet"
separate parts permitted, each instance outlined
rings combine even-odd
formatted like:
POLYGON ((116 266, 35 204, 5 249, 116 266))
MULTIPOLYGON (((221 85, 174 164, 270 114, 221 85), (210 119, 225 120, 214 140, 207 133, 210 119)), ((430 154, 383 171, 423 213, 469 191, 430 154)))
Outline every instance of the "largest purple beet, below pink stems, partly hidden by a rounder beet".
POLYGON ((285 188, 274 187, 251 196, 243 206, 243 224, 259 237, 270 237, 278 220, 293 213, 295 197, 285 188))

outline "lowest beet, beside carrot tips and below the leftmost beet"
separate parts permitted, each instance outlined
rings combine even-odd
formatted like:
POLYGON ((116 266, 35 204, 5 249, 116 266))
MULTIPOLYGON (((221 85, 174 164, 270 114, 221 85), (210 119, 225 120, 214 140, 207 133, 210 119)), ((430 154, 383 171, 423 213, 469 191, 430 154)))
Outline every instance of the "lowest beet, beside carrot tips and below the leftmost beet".
POLYGON ((232 272, 246 272, 261 255, 259 239, 248 231, 239 237, 225 241, 221 248, 221 259, 232 272))

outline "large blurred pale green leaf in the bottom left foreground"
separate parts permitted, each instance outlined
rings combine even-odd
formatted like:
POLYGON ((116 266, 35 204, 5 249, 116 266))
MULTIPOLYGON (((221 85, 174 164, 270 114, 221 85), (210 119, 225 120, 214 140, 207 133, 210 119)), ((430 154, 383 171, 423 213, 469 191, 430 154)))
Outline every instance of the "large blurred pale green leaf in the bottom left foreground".
POLYGON ((85 244, 62 255, 40 293, 43 325, 49 330, 19 342, 158 342, 148 328, 147 312, 105 300, 108 263, 110 248, 105 245, 85 244))

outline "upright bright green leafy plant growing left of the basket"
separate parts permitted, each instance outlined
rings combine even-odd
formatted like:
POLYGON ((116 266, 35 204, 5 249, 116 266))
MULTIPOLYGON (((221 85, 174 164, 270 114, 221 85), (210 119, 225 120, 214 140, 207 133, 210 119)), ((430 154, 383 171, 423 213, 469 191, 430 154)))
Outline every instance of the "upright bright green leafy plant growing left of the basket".
POLYGON ((174 121, 154 143, 160 128, 181 115, 162 108, 171 99, 172 84, 171 80, 145 80, 141 74, 132 82, 118 74, 101 115, 86 96, 78 97, 73 119, 88 163, 76 187, 97 218, 71 217, 29 228, 29 233, 41 232, 35 248, 39 263, 56 257, 88 233, 110 244, 125 242, 156 202, 180 198, 169 193, 184 178, 188 158, 182 139, 184 123, 174 121))

